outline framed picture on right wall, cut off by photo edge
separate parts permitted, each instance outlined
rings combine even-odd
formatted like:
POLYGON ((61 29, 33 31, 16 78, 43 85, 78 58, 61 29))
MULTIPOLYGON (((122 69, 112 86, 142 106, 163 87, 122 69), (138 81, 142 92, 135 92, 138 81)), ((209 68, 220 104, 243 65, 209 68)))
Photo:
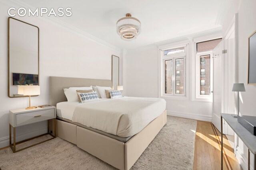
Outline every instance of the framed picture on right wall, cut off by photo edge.
POLYGON ((256 85, 256 31, 249 37, 248 44, 248 85, 256 85))

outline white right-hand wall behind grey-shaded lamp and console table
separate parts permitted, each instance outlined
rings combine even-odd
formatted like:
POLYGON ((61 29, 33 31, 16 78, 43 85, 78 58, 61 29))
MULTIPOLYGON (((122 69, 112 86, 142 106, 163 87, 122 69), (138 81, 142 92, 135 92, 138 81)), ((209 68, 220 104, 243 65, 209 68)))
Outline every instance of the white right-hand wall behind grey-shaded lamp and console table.
MULTIPOLYGON (((240 93, 240 114, 256 116, 256 86, 246 85, 248 77, 248 37, 256 30, 256 1, 235 0, 224 20, 223 33, 228 29, 235 13, 238 13, 238 82, 245 84, 246 92, 240 93)), ((247 147, 239 140, 236 154, 242 167, 247 169, 247 147)), ((251 169, 254 156, 251 154, 251 169)))

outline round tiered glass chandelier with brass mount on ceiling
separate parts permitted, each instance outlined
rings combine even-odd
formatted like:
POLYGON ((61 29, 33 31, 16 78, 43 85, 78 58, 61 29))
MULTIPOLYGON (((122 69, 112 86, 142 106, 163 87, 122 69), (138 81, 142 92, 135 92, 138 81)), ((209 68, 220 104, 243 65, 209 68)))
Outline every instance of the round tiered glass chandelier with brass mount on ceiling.
POLYGON ((125 41, 132 41, 136 39, 141 31, 141 23, 137 18, 132 17, 131 14, 126 14, 126 17, 121 18, 116 22, 116 32, 121 39, 125 41))

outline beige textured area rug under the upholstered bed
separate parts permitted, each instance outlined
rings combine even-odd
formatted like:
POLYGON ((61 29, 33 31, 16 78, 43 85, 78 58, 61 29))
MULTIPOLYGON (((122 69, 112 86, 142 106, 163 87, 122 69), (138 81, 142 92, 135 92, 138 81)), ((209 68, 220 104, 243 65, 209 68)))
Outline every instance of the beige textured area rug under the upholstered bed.
MULTIPOLYGON (((131 168, 132 170, 192 170, 196 120, 167 117, 167 123, 131 168)), ((34 139, 42 140, 41 139, 34 139)), ((20 144, 21 145, 28 145, 20 144)), ((56 138, 13 153, 0 150, 2 170, 113 170, 113 166, 72 143, 56 138)))

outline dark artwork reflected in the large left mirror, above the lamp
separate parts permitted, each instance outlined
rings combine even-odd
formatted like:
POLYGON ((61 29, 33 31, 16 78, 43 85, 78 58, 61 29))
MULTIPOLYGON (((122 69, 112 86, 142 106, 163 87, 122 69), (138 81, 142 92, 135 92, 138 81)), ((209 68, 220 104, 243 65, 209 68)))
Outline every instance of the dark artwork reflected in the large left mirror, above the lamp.
POLYGON ((12 85, 38 85, 38 74, 12 73, 12 85))

